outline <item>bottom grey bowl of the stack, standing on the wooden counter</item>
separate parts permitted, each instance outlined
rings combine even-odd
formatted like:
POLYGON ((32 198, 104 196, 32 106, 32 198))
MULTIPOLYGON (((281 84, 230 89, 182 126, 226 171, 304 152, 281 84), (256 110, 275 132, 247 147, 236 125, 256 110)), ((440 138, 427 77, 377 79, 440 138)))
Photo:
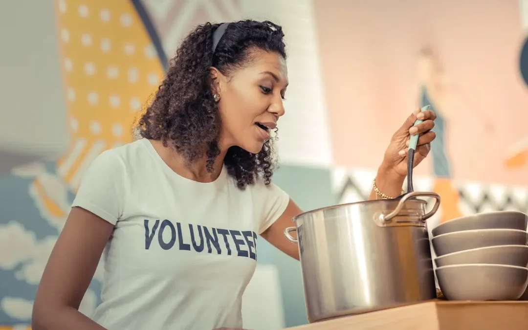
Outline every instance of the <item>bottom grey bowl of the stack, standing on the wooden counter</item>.
POLYGON ((435 270, 448 300, 517 300, 528 285, 528 269, 517 266, 452 265, 435 270))

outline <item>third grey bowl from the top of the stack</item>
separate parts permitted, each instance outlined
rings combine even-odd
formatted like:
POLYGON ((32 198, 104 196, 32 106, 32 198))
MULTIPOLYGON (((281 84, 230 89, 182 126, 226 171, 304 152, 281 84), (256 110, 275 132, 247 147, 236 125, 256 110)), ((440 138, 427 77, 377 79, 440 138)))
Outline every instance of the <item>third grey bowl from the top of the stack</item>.
POLYGON ((458 251, 435 258, 437 267, 464 265, 468 263, 491 263, 494 265, 528 266, 528 246, 499 245, 458 251))

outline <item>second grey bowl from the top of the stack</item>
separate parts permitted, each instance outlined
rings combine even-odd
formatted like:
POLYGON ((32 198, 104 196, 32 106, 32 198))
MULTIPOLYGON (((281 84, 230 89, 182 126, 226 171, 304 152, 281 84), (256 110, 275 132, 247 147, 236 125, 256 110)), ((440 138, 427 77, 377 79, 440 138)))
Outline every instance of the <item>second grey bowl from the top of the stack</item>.
POLYGON ((448 253, 498 245, 526 245, 528 233, 515 229, 478 229, 441 234, 431 239, 437 257, 448 253))

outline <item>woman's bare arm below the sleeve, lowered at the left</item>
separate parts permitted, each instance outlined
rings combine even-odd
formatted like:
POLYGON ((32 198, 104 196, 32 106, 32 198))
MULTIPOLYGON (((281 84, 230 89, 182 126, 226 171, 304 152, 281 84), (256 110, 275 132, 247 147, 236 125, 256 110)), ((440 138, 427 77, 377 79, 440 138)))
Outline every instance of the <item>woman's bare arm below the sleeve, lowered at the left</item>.
POLYGON ((33 330, 104 330, 79 312, 114 225, 81 208, 72 208, 37 290, 33 330))

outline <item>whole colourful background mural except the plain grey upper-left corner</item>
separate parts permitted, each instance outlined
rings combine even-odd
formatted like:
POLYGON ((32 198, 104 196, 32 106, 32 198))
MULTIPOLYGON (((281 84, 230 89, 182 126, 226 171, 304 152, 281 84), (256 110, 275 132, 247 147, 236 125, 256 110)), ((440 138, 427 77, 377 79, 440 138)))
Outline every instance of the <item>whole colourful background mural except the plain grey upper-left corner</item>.
MULTIPOLYGON (((84 171, 103 150, 133 138, 167 59, 205 21, 267 18, 284 27, 291 86, 275 182, 301 208, 366 199, 390 134, 428 103, 439 115, 438 138, 414 187, 442 196, 429 228, 475 212, 528 212, 521 10, 513 0, 446 1, 55 0, 49 35, 59 42, 69 148, 0 176, 0 251, 9 251, 0 252, 0 329, 28 328, 84 171), (416 17, 426 16, 417 28, 416 17)), ((246 308, 248 326, 306 323, 298 263, 265 242, 259 253, 256 281, 274 286, 267 294, 277 308, 268 320, 246 308)), ((100 301, 101 281, 99 268, 81 304, 86 315, 100 301)), ((262 303, 260 283, 248 297, 254 306, 262 303)))

